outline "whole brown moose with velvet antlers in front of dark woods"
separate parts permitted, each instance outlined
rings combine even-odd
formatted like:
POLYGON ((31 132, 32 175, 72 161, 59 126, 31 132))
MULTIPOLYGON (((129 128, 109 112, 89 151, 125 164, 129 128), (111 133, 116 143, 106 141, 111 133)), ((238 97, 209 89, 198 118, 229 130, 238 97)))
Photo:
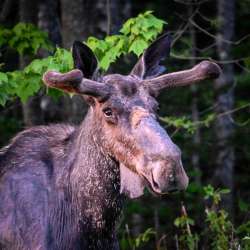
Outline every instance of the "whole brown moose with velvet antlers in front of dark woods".
POLYGON ((0 151, 0 249, 119 249, 124 194, 187 187, 181 151, 157 122, 155 98, 168 87, 216 78, 220 69, 203 61, 159 76, 169 50, 165 34, 129 75, 97 78, 94 54, 75 42, 76 69, 44 74, 46 85, 82 95, 90 108, 79 127, 30 128, 0 151))

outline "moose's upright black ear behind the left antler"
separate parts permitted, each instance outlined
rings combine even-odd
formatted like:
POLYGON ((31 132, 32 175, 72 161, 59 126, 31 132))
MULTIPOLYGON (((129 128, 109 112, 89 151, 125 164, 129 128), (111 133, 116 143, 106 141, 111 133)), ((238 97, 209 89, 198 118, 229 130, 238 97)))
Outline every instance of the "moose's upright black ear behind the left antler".
POLYGON ((92 50, 79 41, 75 41, 72 49, 74 67, 82 71, 85 78, 91 79, 97 69, 97 59, 92 50))

